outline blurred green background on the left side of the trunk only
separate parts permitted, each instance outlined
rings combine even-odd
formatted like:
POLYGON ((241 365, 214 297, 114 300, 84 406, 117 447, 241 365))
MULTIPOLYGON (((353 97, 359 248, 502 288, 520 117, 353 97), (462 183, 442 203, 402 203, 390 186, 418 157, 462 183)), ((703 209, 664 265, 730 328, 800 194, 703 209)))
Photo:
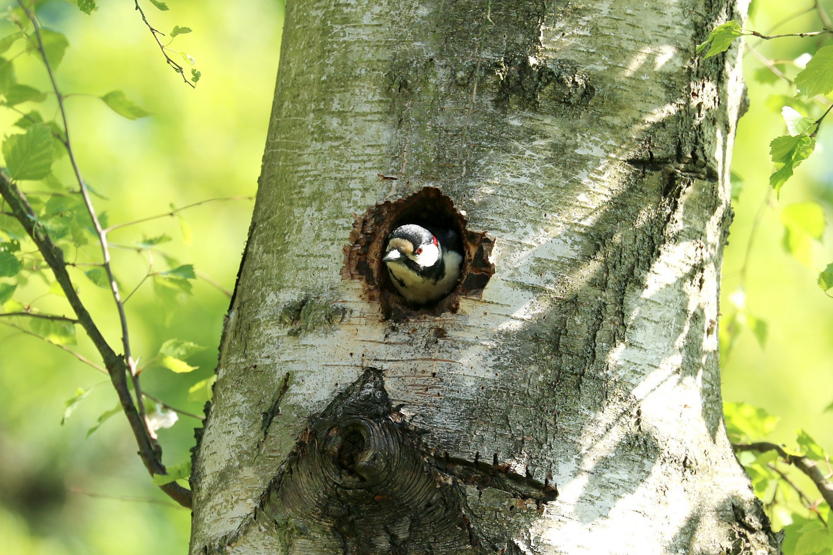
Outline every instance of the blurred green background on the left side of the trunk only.
MULTIPOLYGON (((217 197, 254 195, 272 109, 282 2, 172 0, 167 2, 170 10, 161 12, 150 2, 140 1, 148 20, 162 32, 170 32, 175 25, 192 28, 193 32, 176 37, 171 47, 195 59, 193 67, 202 72, 196 89, 167 67, 133 2, 98 0, 97 11, 87 16, 71 2, 49 0, 38 11, 45 27, 63 32, 70 42, 57 70, 62 92, 102 95, 122 90, 152 112, 152 116, 128 121, 97 98, 67 98, 71 138, 83 174, 110 199, 95 198, 97 210, 107 211, 110 223, 116 223, 169 211, 171 202, 185 206, 217 197)), ((15 2, 0 3, 4 12, 12 5, 15 2)), ((14 30, 3 22, 0 36, 14 30)), ((182 58, 175 58, 184 65, 182 58)), ((42 64, 35 57, 19 57, 16 66, 19 82, 48 89, 42 64)), ((44 106, 42 114, 51 117, 54 102, 44 106)), ((28 111, 37 106, 21 108, 28 111)), ((11 131, 19 117, 0 110, 2 133, 11 131)), ((64 181, 72 183, 67 166, 66 157, 55 163, 64 181)), ((194 264, 231 290, 252 206, 253 201, 220 201, 183 211, 192 228, 191 245, 183 243, 174 218, 117 230, 111 239, 129 245, 143 235, 165 233, 172 241, 160 245, 161 250, 181 264, 194 264)), ((92 246, 85 249, 95 253, 92 246)), ((131 250, 116 249, 112 255, 117 277, 132 289, 147 265, 131 250)), ((164 264, 158 267, 166 269, 164 264)), ((83 275, 77 284, 92 315, 101 320, 99 327, 109 331, 107 339, 117 345, 120 335, 107 290, 92 285, 83 275)), ((32 283, 30 289, 42 286, 32 283)), ((188 359, 199 366, 190 374, 159 367, 142 374, 147 392, 177 409, 202 414, 202 403, 189 402, 187 389, 211 375, 217 364, 229 298, 203 280, 195 282, 193 292, 168 325, 150 281, 127 302, 127 311, 134 356, 147 359, 172 337, 207 347, 188 359)), ((55 297, 55 302, 60 301, 55 297)), ((43 308, 50 302, 49 298, 38 301, 43 308)), ((65 304, 56 306, 70 314, 65 304)), ((73 349, 98 359, 82 333, 73 349)), ((152 486, 124 417, 107 420, 85 439, 99 414, 116 404, 112 387, 104 384, 93 389, 67 423, 60 425, 64 401, 78 387, 86 389, 105 381, 105 376, 72 355, 0 326, 3 555, 187 553, 190 513, 173 506, 152 486), (121 499, 92 497, 96 494, 121 499)), ((197 424, 196 419, 180 416, 172 429, 159 431, 165 463, 182 463, 190 456, 197 424)))

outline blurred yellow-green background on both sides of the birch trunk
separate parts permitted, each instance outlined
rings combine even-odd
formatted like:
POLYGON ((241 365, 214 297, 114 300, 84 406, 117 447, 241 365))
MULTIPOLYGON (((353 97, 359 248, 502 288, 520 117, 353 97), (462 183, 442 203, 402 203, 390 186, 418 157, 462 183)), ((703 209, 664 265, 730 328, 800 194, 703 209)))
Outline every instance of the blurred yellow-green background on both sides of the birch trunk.
MULTIPOLYGON (((127 121, 93 97, 70 97, 70 131, 87 180, 110 201, 98 199, 111 223, 132 221, 177 206, 256 191, 277 70, 282 30, 282 2, 176 0, 160 12, 142 3, 154 27, 174 25, 193 32, 172 47, 196 60, 202 79, 196 90, 167 67, 147 27, 128 1, 100 0, 92 16, 71 2, 50 0, 40 16, 47 27, 67 35, 71 47, 57 72, 64 92, 102 95, 124 91, 152 116, 127 121)), ((805 2, 811 6, 811 0, 805 2)), ((748 27, 766 31, 801 9, 792 2, 760 2, 748 27)), ((781 32, 819 28, 813 13, 796 18, 781 32)), ((0 36, 12 32, 8 24, 0 36)), ((753 41, 754 43, 755 41, 753 41)), ((806 51, 801 39, 759 46, 766 56, 794 59, 806 51)), ((178 60, 177 60, 178 61, 178 60)), ((779 213, 801 201, 820 201, 829 214, 833 202, 833 121, 822 126, 820 146, 787 183, 781 200, 767 196, 772 171, 769 141, 783 135, 784 123, 766 106, 773 92, 791 95, 784 83, 760 83, 761 63, 745 58, 751 108, 741 121, 734 170, 744 188, 735 202, 736 218, 726 249, 721 300, 731 315, 744 285, 745 310, 766 321, 762 348, 750 330, 739 329, 723 369, 726 401, 745 401, 781 417, 773 439, 792 444, 794 430, 804 428, 822 446, 833 448, 833 300, 816 286, 817 271, 833 261, 828 231, 825 245, 813 245, 812 269, 781 246, 779 213), (757 216, 760 215, 760 216, 757 216), (760 219, 749 251, 746 283, 740 270, 750 243, 753 221, 760 219)), ((17 68, 20 82, 47 88, 34 58, 17 68)), ((46 115, 46 114, 45 114, 46 115)), ((0 111, 0 129, 19 116, 0 111)), ((62 161, 56 166, 66 166, 62 161)), ((67 179, 67 181, 69 181, 67 179)), ((186 245, 179 223, 164 218, 113 233, 114 242, 130 244, 143 235, 166 233, 173 240, 162 250, 182 264, 193 263, 203 275, 231 290, 252 211, 252 201, 222 201, 182 213, 192 227, 186 245)), ((91 248, 91 247, 88 247, 91 248)), ((114 264, 132 289, 146 269, 135 252, 115 250, 114 264)), ((117 344, 112 299, 107 291, 79 281, 92 313, 111 330, 117 344)), ((194 298, 167 325, 152 286, 146 284, 129 301, 132 344, 146 358, 165 339, 187 339, 207 347, 189 359, 200 368, 173 374, 151 368, 142 374, 145 389, 167 403, 202 413, 202 403, 187 399, 187 388, 212 374, 228 297, 200 280, 194 298)), ((42 302, 51 302, 45 299, 42 302)), ((96 359, 79 335, 77 350, 96 359)), ((107 385, 92 390, 72 418, 60 425, 64 402, 78 387, 105 381, 102 374, 71 355, 14 330, 0 328, 0 553, 185 553, 189 512, 172 505, 154 488, 122 417, 107 420, 85 439, 99 414, 116 404, 107 385), (104 496, 104 497, 97 497, 104 496)), ((195 419, 181 417, 159 432, 165 462, 182 463, 192 446, 195 419)))

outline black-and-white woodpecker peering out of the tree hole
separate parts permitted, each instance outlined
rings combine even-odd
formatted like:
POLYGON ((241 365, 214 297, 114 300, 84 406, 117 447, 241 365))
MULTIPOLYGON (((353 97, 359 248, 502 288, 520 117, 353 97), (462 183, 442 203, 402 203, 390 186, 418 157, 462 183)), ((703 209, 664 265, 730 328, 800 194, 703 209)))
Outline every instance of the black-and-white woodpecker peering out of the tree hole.
POLYGON ((393 230, 382 261, 400 295, 412 305, 448 295, 460 280, 463 257, 454 248, 458 242, 453 231, 432 233, 421 225, 393 230))

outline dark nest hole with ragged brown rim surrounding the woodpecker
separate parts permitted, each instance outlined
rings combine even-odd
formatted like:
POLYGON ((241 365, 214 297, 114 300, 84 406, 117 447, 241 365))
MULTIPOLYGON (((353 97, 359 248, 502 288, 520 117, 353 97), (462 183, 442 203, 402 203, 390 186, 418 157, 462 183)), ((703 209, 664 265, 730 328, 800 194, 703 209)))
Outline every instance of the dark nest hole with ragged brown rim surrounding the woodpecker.
MULTIPOLYGON (((466 216, 456 209, 450 197, 436 187, 423 187, 399 201, 385 201, 371 206, 364 216, 356 217, 349 243, 344 245, 342 279, 362 280, 367 300, 379 303, 384 320, 456 313, 460 297, 480 299, 483 288, 495 274, 495 265, 489 260, 494 243, 486 231, 466 229, 466 216), (382 262, 388 235, 406 224, 453 230, 461 238, 463 264, 460 282, 451 293, 428 305, 409 305, 391 283, 382 262)), ((436 237, 434 245, 439 246, 436 237)))

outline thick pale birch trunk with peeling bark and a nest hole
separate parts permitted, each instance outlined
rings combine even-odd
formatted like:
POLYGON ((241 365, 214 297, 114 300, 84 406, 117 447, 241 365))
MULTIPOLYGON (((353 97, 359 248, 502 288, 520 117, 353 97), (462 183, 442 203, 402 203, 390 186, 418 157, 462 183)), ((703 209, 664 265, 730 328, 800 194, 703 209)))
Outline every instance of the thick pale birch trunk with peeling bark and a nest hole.
POLYGON ((777 553, 721 412, 734 17, 289 2, 191 553, 777 553), (466 240, 425 310, 413 218, 466 240))

